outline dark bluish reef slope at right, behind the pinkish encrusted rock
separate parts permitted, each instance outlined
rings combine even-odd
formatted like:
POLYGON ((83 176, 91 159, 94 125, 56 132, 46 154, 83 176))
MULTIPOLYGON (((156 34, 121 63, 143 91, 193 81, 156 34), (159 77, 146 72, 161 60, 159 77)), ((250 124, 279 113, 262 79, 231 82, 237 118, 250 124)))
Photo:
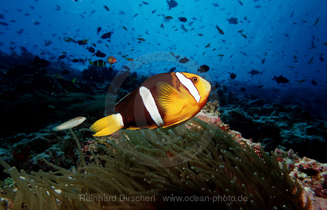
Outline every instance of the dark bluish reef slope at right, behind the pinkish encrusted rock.
POLYGON ((265 104, 248 100, 242 105, 221 108, 221 120, 243 137, 261 142, 268 150, 293 149, 300 156, 326 162, 324 152, 327 124, 314 119, 309 112, 297 105, 265 104))

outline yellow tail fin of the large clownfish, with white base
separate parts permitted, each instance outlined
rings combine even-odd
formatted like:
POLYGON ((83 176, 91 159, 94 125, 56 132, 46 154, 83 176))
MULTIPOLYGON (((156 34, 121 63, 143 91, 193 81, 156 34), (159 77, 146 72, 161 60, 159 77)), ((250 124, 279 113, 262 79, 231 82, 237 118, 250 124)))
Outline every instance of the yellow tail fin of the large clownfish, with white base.
POLYGON ((121 129, 123 125, 117 119, 117 115, 109 115, 91 125, 90 129, 96 132, 93 136, 107 136, 121 129))

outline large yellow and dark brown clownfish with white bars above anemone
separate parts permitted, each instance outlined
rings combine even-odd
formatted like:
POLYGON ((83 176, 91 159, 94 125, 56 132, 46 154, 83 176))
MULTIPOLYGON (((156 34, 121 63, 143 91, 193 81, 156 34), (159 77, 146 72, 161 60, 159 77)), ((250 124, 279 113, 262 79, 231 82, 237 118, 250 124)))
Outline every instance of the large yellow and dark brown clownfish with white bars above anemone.
POLYGON ((117 114, 96 121, 90 129, 96 132, 93 136, 106 136, 119 129, 177 126, 198 114, 210 90, 210 83, 196 74, 156 74, 114 106, 117 114))

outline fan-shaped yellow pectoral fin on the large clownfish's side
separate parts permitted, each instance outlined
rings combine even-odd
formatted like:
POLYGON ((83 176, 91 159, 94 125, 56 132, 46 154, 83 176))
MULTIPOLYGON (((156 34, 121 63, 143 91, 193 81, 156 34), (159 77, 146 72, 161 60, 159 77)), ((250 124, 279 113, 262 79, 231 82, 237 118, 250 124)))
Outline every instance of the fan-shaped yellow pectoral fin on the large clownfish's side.
POLYGON ((164 82, 156 84, 157 105, 165 115, 177 115, 186 106, 188 97, 164 82))

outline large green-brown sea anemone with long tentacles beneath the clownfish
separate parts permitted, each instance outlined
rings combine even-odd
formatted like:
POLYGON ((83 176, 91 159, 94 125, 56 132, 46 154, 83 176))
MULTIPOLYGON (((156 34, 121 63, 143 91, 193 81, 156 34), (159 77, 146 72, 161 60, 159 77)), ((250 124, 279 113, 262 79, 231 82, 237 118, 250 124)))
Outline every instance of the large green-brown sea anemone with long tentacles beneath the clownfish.
MULTIPOLYGON (((81 166, 75 173, 46 162, 57 171, 26 174, 1 159, 18 188, 13 191, 1 183, 6 190, 1 197, 14 199, 15 209, 22 203, 29 209, 56 210, 299 209, 304 205, 300 185, 288 176, 285 163, 279 167, 278 156, 273 152, 269 156, 261 147, 260 158, 246 142, 241 145, 197 118, 172 130, 123 130, 118 141, 107 140, 110 149, 96 146, 107 154, 91 152, 95 161, 88 165, 77 144, 81 166)), ((309 205, 307 199, 304 209, 309 205)))

